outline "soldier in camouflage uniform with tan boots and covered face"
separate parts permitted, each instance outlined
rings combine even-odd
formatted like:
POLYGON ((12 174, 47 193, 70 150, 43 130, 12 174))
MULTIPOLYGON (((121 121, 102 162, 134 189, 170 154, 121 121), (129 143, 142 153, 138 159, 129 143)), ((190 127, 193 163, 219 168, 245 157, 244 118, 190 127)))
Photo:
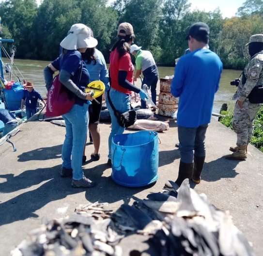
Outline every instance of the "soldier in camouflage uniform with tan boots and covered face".
POLYGON ((253 133, 253 121, 261 108, 261 104, 250 103, 248 96, 255 86, 263 85, 263 34, 255 34, 250 37, 248 50, 251 58, 242 73, 238 90, 233 96, 233 99, 237 99, 233 116, 237 146, 230 147, 233 153, 225 156, 231 160, 247 158, 248 143, 253 133))

